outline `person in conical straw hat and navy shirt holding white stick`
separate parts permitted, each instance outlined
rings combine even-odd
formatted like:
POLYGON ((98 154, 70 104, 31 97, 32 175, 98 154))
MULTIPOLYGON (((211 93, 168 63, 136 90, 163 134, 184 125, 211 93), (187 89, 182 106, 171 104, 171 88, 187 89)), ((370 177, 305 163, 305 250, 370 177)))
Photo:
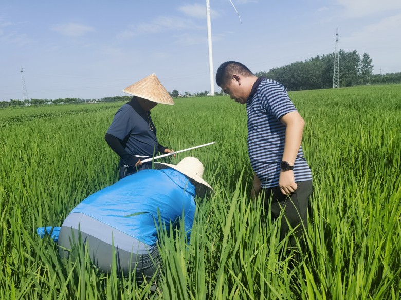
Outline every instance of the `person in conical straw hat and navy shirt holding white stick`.
POLYGON ((152 162, 142 164, 141 159, 151 158, 157 152, 173 152, 158 142, 150 115, 150 110, 158 103, 174 104, 156 75, 141 79, 123 92, 133 97, 116 112, 104 137, 110 148, 120 156, 119 179, 151 168, 152 162))

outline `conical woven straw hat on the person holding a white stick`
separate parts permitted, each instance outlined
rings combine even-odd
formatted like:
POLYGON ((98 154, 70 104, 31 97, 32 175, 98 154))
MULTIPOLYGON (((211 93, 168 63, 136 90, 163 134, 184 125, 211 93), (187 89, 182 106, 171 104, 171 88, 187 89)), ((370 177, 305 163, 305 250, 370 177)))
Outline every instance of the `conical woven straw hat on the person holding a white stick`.
POLYGON ((160 83, 156 74, 153 73, 148 77, 126 87, 122 90, 124 93, 137 96, 139 98, 147 99, 161 104, 173 105, 173 98, 168 91, 160 83))

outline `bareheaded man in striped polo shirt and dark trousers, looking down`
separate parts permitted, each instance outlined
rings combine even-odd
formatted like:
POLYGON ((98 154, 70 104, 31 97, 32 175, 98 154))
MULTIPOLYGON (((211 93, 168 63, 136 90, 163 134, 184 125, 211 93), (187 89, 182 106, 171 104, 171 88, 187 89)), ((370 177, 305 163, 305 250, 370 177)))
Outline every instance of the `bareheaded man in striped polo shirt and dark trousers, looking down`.
MULTIPOLYGON (((254 172, 252 195, 264 193, 265 207, 270 206, 274 219, 284 210, 281 239, 289 226, 298 226, 295 235, 301 238, 303 228, 307 228, 312 193, 311 169, 301 146, 303 118, 283 85, 254 76, 241 63, 221 64, 216 83, 231 99, 246 103, 248 154, 254 172)), ((293 237, 290 242, 295 244, 293 237)))

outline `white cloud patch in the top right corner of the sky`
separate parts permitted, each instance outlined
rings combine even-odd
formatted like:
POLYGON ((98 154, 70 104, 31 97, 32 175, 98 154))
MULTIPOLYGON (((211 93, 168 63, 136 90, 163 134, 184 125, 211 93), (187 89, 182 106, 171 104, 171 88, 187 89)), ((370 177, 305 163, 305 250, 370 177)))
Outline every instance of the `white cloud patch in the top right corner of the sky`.
POLYGON ((399 0, 337 0, 345 8, 347 17, 364 17, 380 12, 401 10, 399 0))

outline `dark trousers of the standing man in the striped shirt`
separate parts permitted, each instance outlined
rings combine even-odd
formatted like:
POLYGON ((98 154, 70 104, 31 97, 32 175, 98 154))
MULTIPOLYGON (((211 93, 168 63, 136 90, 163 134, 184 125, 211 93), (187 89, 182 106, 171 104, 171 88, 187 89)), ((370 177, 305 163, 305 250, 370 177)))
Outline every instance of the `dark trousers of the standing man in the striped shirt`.
MULTIPOLYGON (((309 208, 309 197, 312 194, 312 181, 297 182, 298 188, 289 196, 281 193, 280 187, 261 189, 264 193, 265 208, 270 207, 272 219, 276 220, 281 211, 284 211, 280 223, 280 240, 288 233, 290 227, 296 228, 294 235, 298 239, 307 230, 307 217, 309 208)), ((291 246, 295 246, 294 236, 290 238, 291 246)))

